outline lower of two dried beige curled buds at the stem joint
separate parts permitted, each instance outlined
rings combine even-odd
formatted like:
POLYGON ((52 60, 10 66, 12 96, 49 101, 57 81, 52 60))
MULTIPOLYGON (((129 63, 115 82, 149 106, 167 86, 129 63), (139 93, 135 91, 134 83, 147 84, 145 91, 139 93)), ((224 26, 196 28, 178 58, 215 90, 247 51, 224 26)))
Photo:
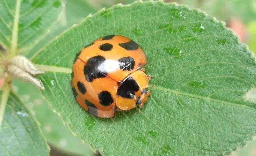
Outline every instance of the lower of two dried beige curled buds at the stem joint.
POLYGON ((32 75, 30 75, 26 71, 23 71, 18 66, 10 64, 7 67, 7 71, 11 76, 13 76, 15 78, 19 78, 19 79, 27 81, 27 82, 30 82, 33 85, 36 85, 37 88, 44 90, 44 85, 42 84, 42 82, 39 79, 34 78, 32 75))

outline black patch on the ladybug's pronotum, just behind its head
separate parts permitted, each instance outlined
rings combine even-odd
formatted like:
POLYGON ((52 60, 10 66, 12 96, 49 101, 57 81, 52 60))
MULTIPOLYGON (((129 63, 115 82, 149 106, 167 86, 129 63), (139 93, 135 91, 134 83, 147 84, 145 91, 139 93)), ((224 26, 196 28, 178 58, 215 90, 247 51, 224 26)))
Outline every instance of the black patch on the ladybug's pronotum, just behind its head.
POLYGON ((132 79, 132 77, 128 77, 124 80, 124 82, 119 86, 117 95, 122 96, 124 98, 132 99, 135 97, 134 92, 138 92, 140 89, 137 82, 132 79))

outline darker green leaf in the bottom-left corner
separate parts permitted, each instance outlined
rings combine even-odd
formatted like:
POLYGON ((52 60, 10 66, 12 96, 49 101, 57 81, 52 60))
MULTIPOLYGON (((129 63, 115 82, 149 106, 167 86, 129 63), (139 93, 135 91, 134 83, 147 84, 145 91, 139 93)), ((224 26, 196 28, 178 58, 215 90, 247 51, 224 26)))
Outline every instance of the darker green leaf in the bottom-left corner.
POLYGON ((15 93, 9 95, 0 130, 0 156, 49 156, 39 123, 25 105, 15 93))

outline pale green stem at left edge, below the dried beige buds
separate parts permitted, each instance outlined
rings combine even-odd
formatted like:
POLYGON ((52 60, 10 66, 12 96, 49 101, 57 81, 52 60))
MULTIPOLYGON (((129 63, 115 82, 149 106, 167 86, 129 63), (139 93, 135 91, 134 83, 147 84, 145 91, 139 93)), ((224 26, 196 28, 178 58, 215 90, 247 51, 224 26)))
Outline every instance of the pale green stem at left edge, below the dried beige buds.
POLYGON ((7 104, 10 91, 11 91, 10 85, 6 84, 5 87, 3 88, 3 93, 1 97, 1 103, 0 103, 0 130, 2 127, 2 122, 4 119, 4 111, 5 111, 5 107, 7 104))

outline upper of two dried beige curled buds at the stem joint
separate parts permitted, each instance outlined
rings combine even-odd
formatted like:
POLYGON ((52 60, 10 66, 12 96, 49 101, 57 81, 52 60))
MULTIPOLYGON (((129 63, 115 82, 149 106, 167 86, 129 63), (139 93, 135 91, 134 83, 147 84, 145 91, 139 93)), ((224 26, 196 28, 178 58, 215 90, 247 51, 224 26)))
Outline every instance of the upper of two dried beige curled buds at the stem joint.
POLYGON ((44 74, 44 71, 36 69, 35 65, 25 56, 17 55, 12 58, 11 63, 18 66, 21 70, 27 71, 32 75, 44 74))

